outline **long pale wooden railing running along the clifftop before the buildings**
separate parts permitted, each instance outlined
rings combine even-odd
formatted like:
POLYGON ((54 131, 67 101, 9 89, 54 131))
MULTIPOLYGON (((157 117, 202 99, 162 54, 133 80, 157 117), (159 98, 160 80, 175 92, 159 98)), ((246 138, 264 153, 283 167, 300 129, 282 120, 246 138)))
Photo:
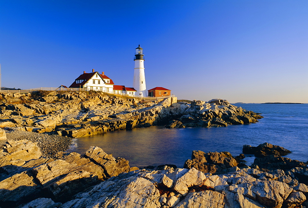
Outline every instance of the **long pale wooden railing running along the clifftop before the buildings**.
MULTIPOLYGON (((90 91, 88 88, 64 88, 64 87, 39 87, 39 88, 33 88, 33 89, 28 89, 28 90, 0 90, 0 93, 30 93, 30 92, 35 92, 39 90, 45 90, 45 91, 90 91)), ((124 94, 124 93, 114 93, 106 90, 92 90, 92 91, 99 91, 99 92, 105 92, 109 94, 117 94, 117 95, 124 95, 124 96, 129 96, 129 97, 134 97, 134 98, 139 98, 143 100, 160 100, 160 99, 165 99, 165 98, 170 98, 170 97, 175 97, 175 95, 167 95, 167 96, 162 96, 162 97, 143 97, 143 96, 138 96, 138 95, 132 95, 132 94, 124 94)))

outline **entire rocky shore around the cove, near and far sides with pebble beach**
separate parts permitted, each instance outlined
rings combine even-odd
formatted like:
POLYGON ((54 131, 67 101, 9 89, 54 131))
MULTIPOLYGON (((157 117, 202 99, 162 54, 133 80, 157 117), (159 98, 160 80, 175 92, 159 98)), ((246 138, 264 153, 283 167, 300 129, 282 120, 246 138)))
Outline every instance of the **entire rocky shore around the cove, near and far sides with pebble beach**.
POLYGON ((129 166, 72 138, 152 125, 224 127, 257 122, 228 101, 143 101, 99 92, 0 94, 0 207, 308 207, 308 162, 264 143, 243 154, 194 150, 183 168, 129 166), (2 130, 4 129, 4 130, 2 130), (245 154, 254 154, 251 166, 245 154))

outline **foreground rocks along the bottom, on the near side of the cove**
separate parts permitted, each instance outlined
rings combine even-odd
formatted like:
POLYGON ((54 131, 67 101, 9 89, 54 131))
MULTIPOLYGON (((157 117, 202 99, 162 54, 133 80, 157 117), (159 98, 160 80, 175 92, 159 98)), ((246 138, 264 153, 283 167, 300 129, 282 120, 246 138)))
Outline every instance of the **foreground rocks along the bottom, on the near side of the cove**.
MULTIPOLYGON (((11 136, 9 136, 11 137, 11 136)), ((307 162, 283 158, 269 143, 260 154, 193 151, 184 168, 141 169, 92 146, 86 154, 42 155, 38 143, 7 140, 0 150, 1 207, 308 207, 307 162)))

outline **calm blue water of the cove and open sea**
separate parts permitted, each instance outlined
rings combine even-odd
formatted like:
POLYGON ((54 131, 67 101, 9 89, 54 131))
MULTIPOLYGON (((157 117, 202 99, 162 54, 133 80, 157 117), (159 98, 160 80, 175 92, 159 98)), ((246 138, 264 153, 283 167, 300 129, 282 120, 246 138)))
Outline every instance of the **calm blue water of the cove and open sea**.
MULTIPOLYGON (((308 160, 308 104, 240 104, 261 113, 256 124, 219 128, 164 129, 157 126, 119 130, 75 139, 71 151, 84 154, 89 146, 99 146, 114 157, 129 160, 130 166, 175 164, 183 167, 193 150, 242 153, 244 144, 264 142, 291 150, 286 157, 308 160)), ((247 164, 253 157, 245 158, 247 164)))

